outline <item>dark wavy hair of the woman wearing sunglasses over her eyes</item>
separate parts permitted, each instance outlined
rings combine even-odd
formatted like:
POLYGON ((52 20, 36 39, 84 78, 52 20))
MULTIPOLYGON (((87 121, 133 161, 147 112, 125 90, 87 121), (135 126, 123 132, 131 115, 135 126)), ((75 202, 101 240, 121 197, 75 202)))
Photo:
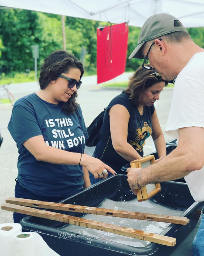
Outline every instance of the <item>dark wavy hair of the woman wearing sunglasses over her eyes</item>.
MULTIPOLYGON (((58 79, 58 75, 67 73, 71 68, 81 71, 80 79, 84 73, 83 64, 73 55, 66 51, 55 51, 45 58, 40 71, 40 88, 44 90, 48 84, 58 79)), ((71 98, 62 106, 62 110, 67 114, 73 113, 78 106, 76 102, 77 92, 75 91, 71 98)))

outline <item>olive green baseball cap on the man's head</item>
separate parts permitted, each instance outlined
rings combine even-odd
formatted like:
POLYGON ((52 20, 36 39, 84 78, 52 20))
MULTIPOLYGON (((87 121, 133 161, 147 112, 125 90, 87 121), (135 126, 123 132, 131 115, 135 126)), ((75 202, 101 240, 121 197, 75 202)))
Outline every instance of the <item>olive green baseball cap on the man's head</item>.
POLYGON ((138 45, 131 53, 129 59, 143 59, 144 56, 141 53, 141 48, 147 41, 150 41, 152 39, 161 37, 162 35, 166 35, 172 32, 186 31, 186 28, 183 26, 175 27, 175 20, 178 19, 167 13, 159 13, 149 17, 141 28, 138 39, 138 45))

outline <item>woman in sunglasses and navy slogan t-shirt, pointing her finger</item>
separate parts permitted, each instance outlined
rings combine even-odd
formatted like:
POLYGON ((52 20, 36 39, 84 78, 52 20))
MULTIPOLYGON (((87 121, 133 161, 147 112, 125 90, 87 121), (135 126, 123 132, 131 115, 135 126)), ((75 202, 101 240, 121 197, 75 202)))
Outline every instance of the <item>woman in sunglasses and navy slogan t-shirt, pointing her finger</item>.
MULTIPOLYGON (((41 67, 40 90, 15 102, 8 124, 19 152, 15 197, 57 202, 90 186, 88 171, 116 174, 83 154, 88 135, 75 102, 83 73, 73 54, 54 52, 41 67)), ((14 213, 14 222, 24 216, 14 213)))

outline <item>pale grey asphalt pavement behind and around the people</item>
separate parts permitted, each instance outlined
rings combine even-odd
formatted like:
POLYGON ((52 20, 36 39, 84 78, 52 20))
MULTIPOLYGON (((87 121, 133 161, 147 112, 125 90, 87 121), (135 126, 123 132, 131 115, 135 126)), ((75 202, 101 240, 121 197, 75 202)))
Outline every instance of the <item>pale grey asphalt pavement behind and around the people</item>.
MULTIPOLYGON (((116 82, 127 81, 130 75, 131 73, 124 73, 112 80, 116 82)), ((17 99, 39 90, 39 85, 37 82, 19 83, 9 85, 8 89, 17 99)), ((82 78, 82 86, 78 91, 77 102, 82 108, 86 126, 90 125, 93 119, 108 105, 111 99, 120 94, 121 91, 121 89, 102 89, 99 85, 97 85, 96 76, 82 78)), ((163 131, 165 130, 165 125, 167 123, 168 113, 171 106, 172 93, 172 88, 165 88, 161 92, 160 99, 156 102, 155 105, 159 122, 163 131)), ((0 147, 0 203, 5 202, 5 199, 8 197, 14 197, 15 178, 17 177, 18 173, 18 150, 16 148, 16 143, 7 130, 11 111, 11 104, 0 104, 0 133, 4 138, 2 146, 0 147)), ((170 141, 172 139, 165 133, 164 135, 166 141, 170 141)), ((150 137, 146 140, 144 155, 149 154, 154 150, 154 143, 150 137)), ((0 210, 0 223, 9 222, 13 222, 12 213, 0 210)), ((193 237, 198 229, 198 224, 196 228, 188 235, 188 237, 181 243, 181 245, 176 248, 171 256, 192 255, 191 244, 193 237)))

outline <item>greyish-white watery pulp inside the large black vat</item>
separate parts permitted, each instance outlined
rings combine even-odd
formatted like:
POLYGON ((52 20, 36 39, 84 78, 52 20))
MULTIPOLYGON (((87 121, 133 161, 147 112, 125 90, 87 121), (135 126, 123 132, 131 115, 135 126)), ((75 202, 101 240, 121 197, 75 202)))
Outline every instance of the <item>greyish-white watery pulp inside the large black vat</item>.
MULTIPOLYGON (((111 199, 105 199, 98 207, 105 208, 105 209, 122 210, 122 211, 135 211, 140 213, 162 214, 162 215, 168 215, 168 216, 169 215, 180 216, 183 213, 183 211, 175 210, 172 208, 159 205, 158 203, 155 203, 151 200, 138 202, 137 199, 133 199, 125 202, 124 201, 118 202, 118 201, 113 201, 111 199)), ((86 214, 83 216, 83 218, 90 219, 93 221, 110 223, 110 224, 118 225, 122 227, 142 230, 142 231, 155 233, 155 234, 162 233, 162 231, 170 225, 170 223, 164 223, 164 222, 142 221, 138 219, 126 219, 126 218, 110 217, 110 216, 95 215, 95 214, 86 214)), ((139 239, 126 237, 123 235, 117 235, 117 234, 100 231, 96 229, 89 229, 86 227, 74 226, 71 224, 64 226, 63 230, 79 233, 82 235, 88 235, 90 237, 104 239, 110 242, 130 245, 134 247, 144 247, 150 243, 148 241, 142 241, 139 239)))

